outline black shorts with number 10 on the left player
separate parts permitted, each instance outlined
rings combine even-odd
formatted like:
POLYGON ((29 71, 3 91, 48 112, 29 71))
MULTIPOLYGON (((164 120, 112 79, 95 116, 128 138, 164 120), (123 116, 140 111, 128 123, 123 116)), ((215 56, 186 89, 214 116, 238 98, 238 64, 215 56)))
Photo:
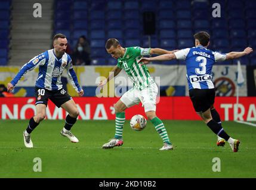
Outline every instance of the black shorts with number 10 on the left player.
POLYGON ((61 88, 60 90, 47 90, 45 88, 35 88, 36 105, 42 103, 47 106, 48 99, 50 99, 54 105, 60 107, 63 103, 72 99, 66 90, 61 88))

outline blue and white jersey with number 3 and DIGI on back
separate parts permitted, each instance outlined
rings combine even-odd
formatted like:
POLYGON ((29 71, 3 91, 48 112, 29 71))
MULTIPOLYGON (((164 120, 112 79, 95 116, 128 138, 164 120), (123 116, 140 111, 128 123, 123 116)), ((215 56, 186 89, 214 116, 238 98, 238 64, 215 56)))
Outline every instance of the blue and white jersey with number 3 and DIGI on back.
POLYGON ((213 52, 203 46, 181 49, 174 54, 177 59, 186 60, 189 90, 214 88, 212 66, 217 61, 225 61, 226 54, 213 52))

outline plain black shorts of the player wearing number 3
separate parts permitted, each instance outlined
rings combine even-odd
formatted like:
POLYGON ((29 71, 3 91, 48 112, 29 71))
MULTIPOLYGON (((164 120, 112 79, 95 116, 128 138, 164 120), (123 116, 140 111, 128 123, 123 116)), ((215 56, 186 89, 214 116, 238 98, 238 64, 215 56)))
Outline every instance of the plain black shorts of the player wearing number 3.
POLYGON ((189 96, 196 112, 205 112, 211 105, 214 105, 215 89, 191 89, 189 96))

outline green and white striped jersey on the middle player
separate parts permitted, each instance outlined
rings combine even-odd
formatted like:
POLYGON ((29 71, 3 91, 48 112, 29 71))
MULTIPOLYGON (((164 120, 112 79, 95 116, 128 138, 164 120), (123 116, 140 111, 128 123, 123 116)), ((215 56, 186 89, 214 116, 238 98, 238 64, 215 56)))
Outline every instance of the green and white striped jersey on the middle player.
POLYGON ((127 47, 122 58, 118 58, 118 67, 124 69, 128 77, 133 82, 133 87, 137 90, 143 90, 150 84, 155 83, 150 77, 146 65, 138 64, 143 55, 150 55, 150 48, 127 47))

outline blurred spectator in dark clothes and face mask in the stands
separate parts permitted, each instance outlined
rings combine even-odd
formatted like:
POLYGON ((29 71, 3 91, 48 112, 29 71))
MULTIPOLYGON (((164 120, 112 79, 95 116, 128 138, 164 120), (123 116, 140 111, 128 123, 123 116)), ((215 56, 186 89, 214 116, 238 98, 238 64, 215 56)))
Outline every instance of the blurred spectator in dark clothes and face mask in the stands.
POLYGON ((85 36, 80 36, 72 54, 73 65, 90 65, 91 49, 85 36))

